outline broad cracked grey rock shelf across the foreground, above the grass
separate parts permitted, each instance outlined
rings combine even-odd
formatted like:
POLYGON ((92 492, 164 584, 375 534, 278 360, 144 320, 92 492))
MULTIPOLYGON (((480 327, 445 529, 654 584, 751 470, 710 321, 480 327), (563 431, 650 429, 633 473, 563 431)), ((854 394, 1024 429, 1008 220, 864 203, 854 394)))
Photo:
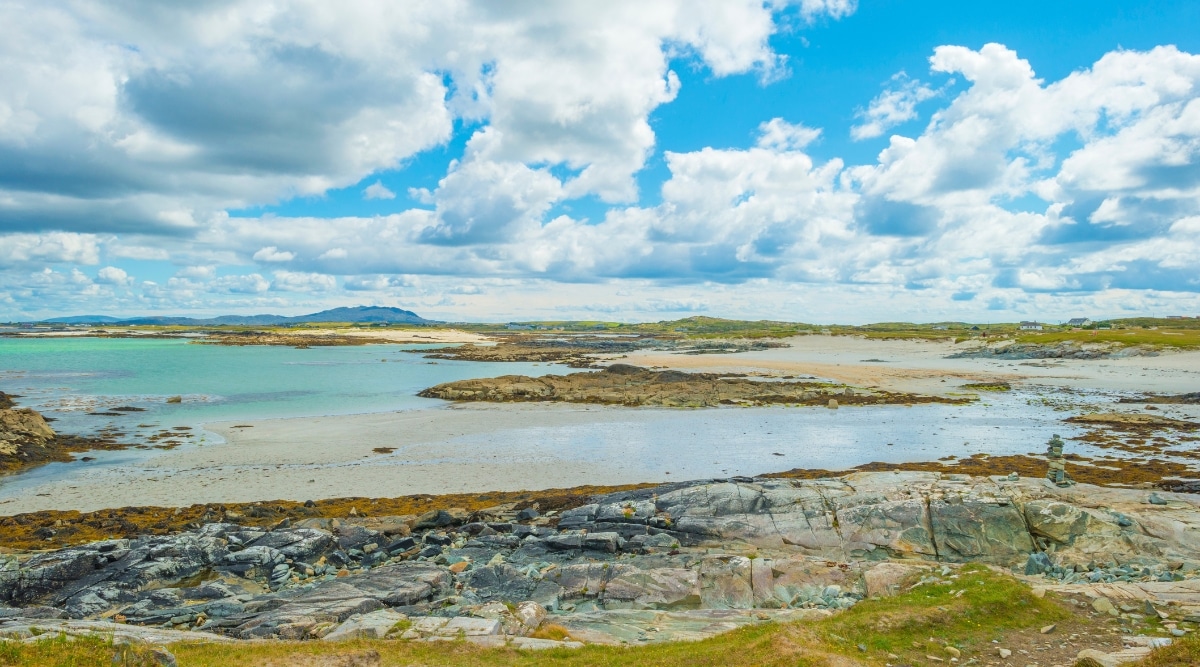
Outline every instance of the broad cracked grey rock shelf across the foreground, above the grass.
POLYGON ((702 480, 546 511, 226 517, 0 557, 0 636, 653 643, 824 618, 966 563, 1117 602, 1124 587, 1183 633, 1200 621, 1198 509, 1196 494, 856 473, 702 480), (550 627, 570 639, 544 638, 550 627))

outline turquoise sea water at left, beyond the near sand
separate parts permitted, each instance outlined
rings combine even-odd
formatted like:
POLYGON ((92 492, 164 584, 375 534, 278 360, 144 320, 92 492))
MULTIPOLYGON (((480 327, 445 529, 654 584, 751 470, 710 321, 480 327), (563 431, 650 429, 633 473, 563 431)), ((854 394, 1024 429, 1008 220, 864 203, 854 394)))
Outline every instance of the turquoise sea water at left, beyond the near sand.
MULTIPOLYGON (((488 375, 547 374, 564 367, 427 360, 442 345, 294 349, 226 347, 179 339, 0 338, 0 391, 54 419, 62 433, 138 423, 211 421, 403 410, 442 404, 416 392, 438 383, 488 375), (167 403, 182 396, 182 403, 167 403), (121 416, 89 413, 132 407, 121 416)), ((194 437, 194 435, 193 435, 194 437)), ((214 438, 208 435, 208 438, 214 438)))

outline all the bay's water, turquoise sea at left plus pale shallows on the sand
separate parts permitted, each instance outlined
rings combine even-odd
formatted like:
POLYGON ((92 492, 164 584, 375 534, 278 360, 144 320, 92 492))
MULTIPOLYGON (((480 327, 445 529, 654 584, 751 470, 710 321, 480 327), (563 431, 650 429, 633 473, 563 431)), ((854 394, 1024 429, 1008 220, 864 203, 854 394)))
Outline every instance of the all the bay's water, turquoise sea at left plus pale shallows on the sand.
MULTIPOLYGON (((416 393, 428 386, 504 374, 576 369, 552 363, 426 359, 442 345, 370 344, 295 349, 212 345, 164 338, 0 338, 0 391, 52 419, 60 433, 108 434, 146 449, 94 452, 89 461, 55 463, 0 480, 0 497, 35 483, 70 479, 85 465, 127 465, 156 456, 155 446, 222 445, 212 422, 444 409, 416 393), (180 402, 168 402, 172 397, 180 402), (154 439, 149 439, 155 437, 154 439)), ((826 408, 708 408, 625 410, 620 419, 566 426, 533 421, 516 431, 448 434, 456 451, 532 449, 574 452, 602 465, 631 452, 667 479, 752 475, 792 468, 844 469, 872 462, 932 461, 948 456, 1037 453, 1054 433, 1080 433, 1062 420, 1070 405, 1111 397, 1070 396, 1061 389, 983 393, 967 405, 917 404, 826 408), (624 452, 624 453, 623 453, 624 452), (720 452, 720 456, 712 456, 720 452), (785 456, 786 455, 786 456, 785 456), (709 463, 709 461, 712 462, 709 463)), ((1086 443, 1072 451, 1105 452, 1086 443)), ((534 453, 534 452, 530 452, 534 453)), ((84 455, 80 455, 80 459, 84 455)))

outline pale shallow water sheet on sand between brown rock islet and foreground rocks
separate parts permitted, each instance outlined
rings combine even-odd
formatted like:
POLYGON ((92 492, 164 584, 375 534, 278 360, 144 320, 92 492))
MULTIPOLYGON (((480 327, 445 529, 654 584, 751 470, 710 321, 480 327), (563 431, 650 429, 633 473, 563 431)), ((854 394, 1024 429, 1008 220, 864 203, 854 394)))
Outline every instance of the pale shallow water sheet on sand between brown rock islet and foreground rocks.
MULTIPOLYGON (((840 470, 875 461, 934 461, 974 453, 1043 453, 1055 433, 1082 432, 1064 423, 1072 413, 1030 401, 1031 393, 988 395, 966 405, 917 404, 827 408, 713 408, 692 410, 612 409, 594 423, 528 426, 448 438, 442 447, 466 456, 439 462, 517 463, 539 456, 650 475, 647 479, 702 479, 758 475, 793 468, 840 470), (1032 404, 1031 404, 1032 403, 1032 404), (670 476, 666 476, 668 475, 670 476)), ((406 449, 396 457, 403 464, 406 449)), ((1070 444, 1085 456, 1102 450, 1070 444)), ((421 451, 424 463, 432 462, 421 451)), ((372 462, 378 464, 378 462, 372 462)))

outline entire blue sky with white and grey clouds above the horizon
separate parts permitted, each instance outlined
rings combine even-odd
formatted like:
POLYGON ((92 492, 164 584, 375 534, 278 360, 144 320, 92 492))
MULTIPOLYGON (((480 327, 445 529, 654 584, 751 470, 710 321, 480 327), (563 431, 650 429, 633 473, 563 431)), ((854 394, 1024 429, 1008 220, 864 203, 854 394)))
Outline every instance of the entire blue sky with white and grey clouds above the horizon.
POLYGON ((1200 2, 0 0, 0 320, 1200 316, 1200 2))

